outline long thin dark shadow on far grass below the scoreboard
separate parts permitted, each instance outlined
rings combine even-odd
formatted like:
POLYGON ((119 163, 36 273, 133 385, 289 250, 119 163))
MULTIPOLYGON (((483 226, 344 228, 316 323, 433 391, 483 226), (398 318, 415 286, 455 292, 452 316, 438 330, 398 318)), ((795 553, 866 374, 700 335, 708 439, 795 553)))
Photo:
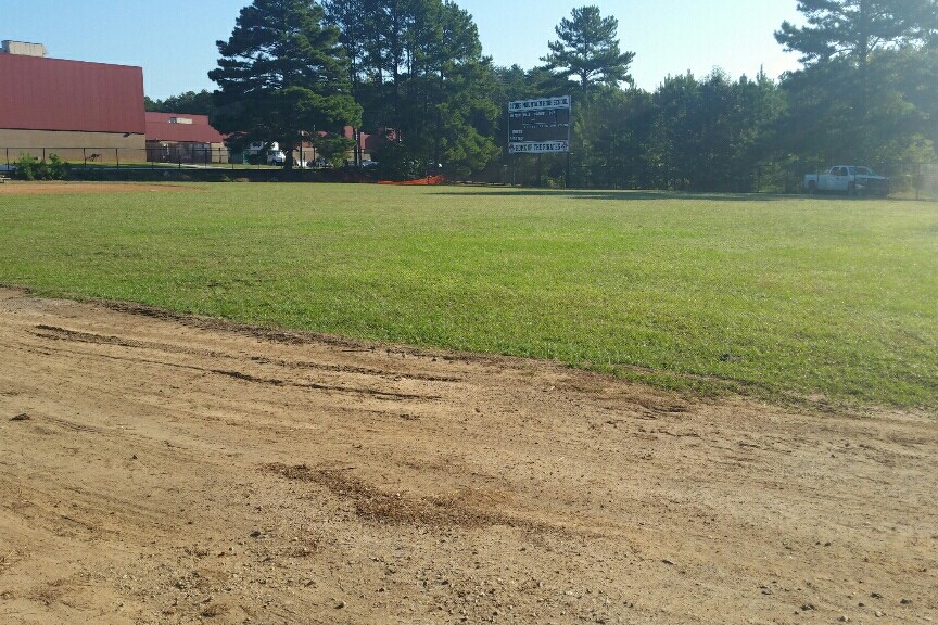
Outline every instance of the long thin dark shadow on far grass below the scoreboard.
POLYGON ((571 200, 614 200, 635 202, 649 200, 707 200, 713 202, 777 202, 803 197, 781 193, 693 193, 677 191, 590 191, 585 189, 495 189, 464 187, 460 191, 438 191, 436 195, 485 195, 505 197, 569 197, 571 200))

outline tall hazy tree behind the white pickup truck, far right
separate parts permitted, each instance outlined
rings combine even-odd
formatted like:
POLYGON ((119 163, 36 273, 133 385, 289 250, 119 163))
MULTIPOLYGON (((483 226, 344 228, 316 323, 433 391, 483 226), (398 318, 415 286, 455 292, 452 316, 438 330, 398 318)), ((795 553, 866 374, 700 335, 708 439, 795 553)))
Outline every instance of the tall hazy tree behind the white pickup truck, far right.
MULTIPOLYGON (((907 157, 923 137, 914 127, 925 116, 887 68, 895 69, 903 56, 911 61, 904 71, 925 78, 916 67, 927 65, 920 61, 938 36, 938 2, 801 0, 798 10, 807 24, 785 22, 775 33, 804 64, 785 80, 791 103, 786 135, 798 142, 794 152, 815 165, 907 157)), ((935 85, 936 77, 925 81, 935 85)))

